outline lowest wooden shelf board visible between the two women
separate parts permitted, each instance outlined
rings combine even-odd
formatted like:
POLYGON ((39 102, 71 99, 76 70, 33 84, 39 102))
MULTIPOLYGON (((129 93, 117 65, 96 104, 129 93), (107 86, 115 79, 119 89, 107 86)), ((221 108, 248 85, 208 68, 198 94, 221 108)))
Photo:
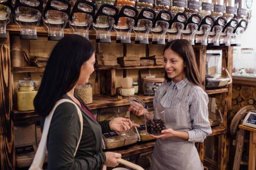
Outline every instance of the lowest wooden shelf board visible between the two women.
POLYGON ((135 145, 125 147, 121 150, 115 150, 114 152, 122 154, 122 157, 136 155, 139 153, 146 153, 153 151, 155 143, 156 142, 136 143, 135 145))

